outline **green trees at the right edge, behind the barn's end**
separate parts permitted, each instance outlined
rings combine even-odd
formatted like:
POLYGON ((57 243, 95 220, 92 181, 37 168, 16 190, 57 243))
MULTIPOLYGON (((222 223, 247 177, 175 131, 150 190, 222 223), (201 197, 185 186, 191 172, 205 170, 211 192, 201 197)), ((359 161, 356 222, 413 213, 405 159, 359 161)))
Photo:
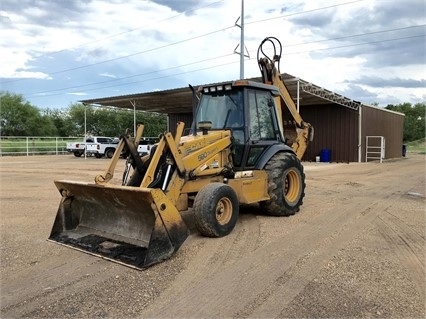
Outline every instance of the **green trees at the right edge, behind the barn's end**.
POLYGON ((425 138, 425 114, 426 103, 402 103, 398 105, 389 104, 386 109, 405 114, 404 141, 411 142, 425 138))

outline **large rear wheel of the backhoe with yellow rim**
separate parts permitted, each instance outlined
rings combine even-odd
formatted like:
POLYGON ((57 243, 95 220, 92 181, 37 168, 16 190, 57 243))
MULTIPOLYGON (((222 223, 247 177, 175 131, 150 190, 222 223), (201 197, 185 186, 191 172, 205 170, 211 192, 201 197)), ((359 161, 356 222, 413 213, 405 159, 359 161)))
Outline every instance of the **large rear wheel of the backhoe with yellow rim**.
POLYGON ((270 200, 260 203, 272 216, 290 216, 300 210, 305 197, 305 174, 300 160, 290 153, 277 153, 265 165, 270 200))

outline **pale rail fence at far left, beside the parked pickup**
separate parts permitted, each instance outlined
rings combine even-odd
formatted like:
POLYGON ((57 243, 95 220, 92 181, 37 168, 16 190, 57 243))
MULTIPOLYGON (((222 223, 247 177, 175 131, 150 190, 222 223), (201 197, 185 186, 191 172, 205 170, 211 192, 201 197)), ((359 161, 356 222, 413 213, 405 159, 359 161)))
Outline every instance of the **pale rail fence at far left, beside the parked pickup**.
POLYGON ((0 156, 32 156, 69 154, 67 143, 83 137, 0 136, 0 156))

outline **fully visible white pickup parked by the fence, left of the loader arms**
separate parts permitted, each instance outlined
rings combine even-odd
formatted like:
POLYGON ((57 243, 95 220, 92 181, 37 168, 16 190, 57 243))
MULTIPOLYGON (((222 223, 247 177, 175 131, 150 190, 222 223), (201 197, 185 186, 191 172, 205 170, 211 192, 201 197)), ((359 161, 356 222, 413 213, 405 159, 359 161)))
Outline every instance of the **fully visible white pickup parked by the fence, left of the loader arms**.
POLYGON ((67 143, 67 151, 80 157, 86 150, 86 155, 95 155, 97 158, 106 156, 111 158, 118 146, 118 139, 105 136, 89 136, 85 142, 67 143))

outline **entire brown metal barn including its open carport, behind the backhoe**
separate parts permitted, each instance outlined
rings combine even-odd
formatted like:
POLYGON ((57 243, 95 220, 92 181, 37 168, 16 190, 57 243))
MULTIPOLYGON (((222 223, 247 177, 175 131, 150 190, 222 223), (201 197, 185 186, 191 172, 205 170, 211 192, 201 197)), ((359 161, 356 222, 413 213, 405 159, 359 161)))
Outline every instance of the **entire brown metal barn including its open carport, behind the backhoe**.
MULTIPOLYGON (((362 104, 284 73, 284 82, 302 118, 313 125, 314 141, 305 161, 365 162, 402 156, 404 114, 362 104)), ((260 78, 250 80, 260 81, 260 78)), ((169 130, 192 123, 189 87, 81 101, 147 112, 166 113, 169 130)))

